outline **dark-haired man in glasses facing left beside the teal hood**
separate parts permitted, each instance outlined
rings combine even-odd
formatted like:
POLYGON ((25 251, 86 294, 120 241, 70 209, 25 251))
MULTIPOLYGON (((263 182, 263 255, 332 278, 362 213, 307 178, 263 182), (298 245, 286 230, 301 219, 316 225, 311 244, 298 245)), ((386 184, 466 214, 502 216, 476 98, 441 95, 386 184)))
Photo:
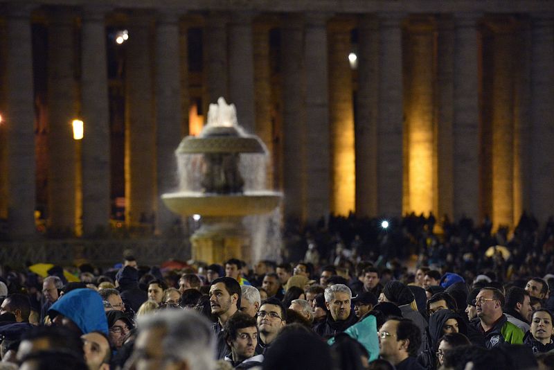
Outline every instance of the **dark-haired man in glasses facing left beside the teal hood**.
POLYGON ((379 330, 379 355, 397 370, 423 370, 416 356, 421 332, 410 319, 388 319, 379 330))

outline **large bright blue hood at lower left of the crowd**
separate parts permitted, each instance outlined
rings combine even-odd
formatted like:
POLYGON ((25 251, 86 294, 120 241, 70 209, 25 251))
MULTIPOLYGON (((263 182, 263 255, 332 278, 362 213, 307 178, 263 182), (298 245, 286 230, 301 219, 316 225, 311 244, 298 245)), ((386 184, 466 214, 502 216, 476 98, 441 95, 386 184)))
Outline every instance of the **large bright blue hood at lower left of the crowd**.
POLYGON ((83 334, 101 331, 108 335, 108 321, 100 294, 89 288, 75 289, 54 302, 48 310, 53 319, 57 314, 68 317, 83 334))

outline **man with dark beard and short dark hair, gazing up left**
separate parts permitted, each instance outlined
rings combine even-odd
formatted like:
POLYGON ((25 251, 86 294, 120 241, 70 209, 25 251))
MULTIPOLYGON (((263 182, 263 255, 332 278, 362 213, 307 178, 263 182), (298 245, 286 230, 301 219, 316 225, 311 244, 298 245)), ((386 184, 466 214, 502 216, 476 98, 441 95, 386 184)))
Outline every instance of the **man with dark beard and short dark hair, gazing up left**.
POLYGON ((216 335, 217 359, 222 360, 227 354, 227 345, 223 337, 226 321, 240 308, 242 291, 238 281, 231 276, 223 276, 212 281, 210 286, 210 307, 217 321, 212 324, 216 335))

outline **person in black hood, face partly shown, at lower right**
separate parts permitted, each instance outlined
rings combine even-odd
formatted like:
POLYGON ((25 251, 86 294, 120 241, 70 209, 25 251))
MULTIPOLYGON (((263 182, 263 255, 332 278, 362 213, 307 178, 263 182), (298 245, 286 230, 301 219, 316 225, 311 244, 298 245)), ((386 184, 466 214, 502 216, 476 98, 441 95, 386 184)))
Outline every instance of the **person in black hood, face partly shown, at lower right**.
POLYGON ((429 317, 429 327, 425 331, 425 351, 418 355, 418 362, 428 370, 437 368, 438 344, 443 335, 450 333, 462 333, 467 337, 467 326, 463 318, 452 310, 443 309, 434 312, 429 317))

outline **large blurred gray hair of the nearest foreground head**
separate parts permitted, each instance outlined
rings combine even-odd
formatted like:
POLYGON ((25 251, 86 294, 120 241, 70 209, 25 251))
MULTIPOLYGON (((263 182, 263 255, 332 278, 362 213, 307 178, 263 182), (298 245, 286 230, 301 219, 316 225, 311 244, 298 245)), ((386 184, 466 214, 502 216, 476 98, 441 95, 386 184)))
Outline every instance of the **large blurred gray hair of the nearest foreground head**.
MULTIPOLYGON (((195 310, 163 310, 139 317, 139 331, 162 329, 165 357, 178 358, 190 370, 212 370, 215 337, 208 319, 195 310)), ((140 335, 139 332, 139 335, 140 335)))

